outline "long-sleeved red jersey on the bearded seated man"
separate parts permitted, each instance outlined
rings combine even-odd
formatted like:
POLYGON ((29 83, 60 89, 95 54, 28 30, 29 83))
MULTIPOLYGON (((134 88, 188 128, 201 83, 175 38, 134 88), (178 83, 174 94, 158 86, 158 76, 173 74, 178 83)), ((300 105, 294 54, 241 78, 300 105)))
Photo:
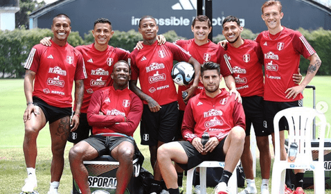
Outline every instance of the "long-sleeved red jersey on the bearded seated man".
POLYGON ((192 143, 197 136, 202 138, 204 132, 216 136, 219 141, 224 139, 235 126, 245 129, 245 114, 241 103, 235 100, 235 95, 229 96, 226 89, 211 98, 202 91, 188 100, 184 112, 181 134, 186 141, 192 143))

